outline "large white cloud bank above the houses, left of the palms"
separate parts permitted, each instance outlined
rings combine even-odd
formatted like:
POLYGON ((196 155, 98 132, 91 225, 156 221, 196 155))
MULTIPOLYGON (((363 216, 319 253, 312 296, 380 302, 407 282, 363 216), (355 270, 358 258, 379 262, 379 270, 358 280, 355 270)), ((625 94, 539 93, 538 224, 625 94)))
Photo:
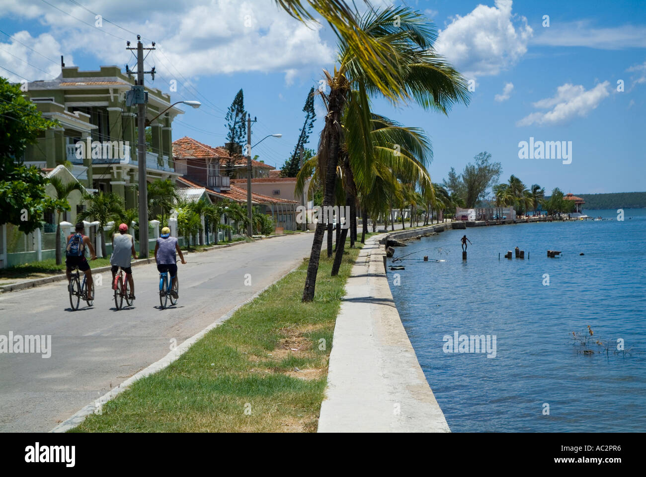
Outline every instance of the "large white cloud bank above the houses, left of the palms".
MULTIPOLYGON (((58 40, 54 44, 64 52, 68 66, 72 65, 71 54, 76 52, 94 54, 100 65, 122 66, 126 61, 132 65, 134 58, 128 57, 124 43, 125 39, 134 43, 134 34, 105 19, 140 33, 145 43, 150 43, 148 39, 157 41, 160 48, 151 54, 147 67, 156 63, 160 77, 178 82, 177 70, 186 78, 198 74, 284 72, 286 82, 291 83, 299 74, 309 74, 312 67, 329 68, 334 61, 334 50, 322 38, 321 25, 304 25, 273 1, 147 0, 137 3, 136 10, 132 10, 131 0, 83 1, 89 10, 104 17, 102 28, 83 25, 45 3, 29 8, 22 8, 19 0, 3 3, 6 8, 3 5, 0 18, 37 19, 48 28, 48 33, 58 40)), ((95 23, 94 14, 79 6, 60 0, 52 0, 52 5, 85 23, 95 23)), ((60 54, 50 53, 47 56, 54 58, 60 54)), ((31 58, 21 58, 32 63, 31 58)), ((42 76, 40 72, 37 78, 42 76)))

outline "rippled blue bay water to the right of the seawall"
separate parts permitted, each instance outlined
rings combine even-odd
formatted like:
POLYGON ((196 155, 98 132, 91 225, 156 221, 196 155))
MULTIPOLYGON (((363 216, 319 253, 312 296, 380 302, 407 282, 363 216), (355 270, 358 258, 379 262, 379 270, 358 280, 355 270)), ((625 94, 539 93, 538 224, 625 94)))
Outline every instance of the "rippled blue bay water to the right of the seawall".
MULTIPOLYGON (((617 217, 616 211, 588 213, 617 217)), ((389 270, 388 280, 454 432, 646 430, 645 234, 646 210, 625 209, 623 222, 448 230, 395 249, 395 257, 419 251, 404 260, 406 270, 389 270), (465 233, 473 244, 463 262, 465 233), (516 246, 529 259, 505 259, 516 246), (547 249, 563 256, 548 259, 547 249), (423 255, 446 261, 416 261, 423 255), (394 273, 401 275, 399 286, 394 273), (632 355, 577 353, 572 332, 588 325, 614 348, 622 338, 632 355), (496 356, 445 353, 443 337, 455 331, 495 335, 496 356)))

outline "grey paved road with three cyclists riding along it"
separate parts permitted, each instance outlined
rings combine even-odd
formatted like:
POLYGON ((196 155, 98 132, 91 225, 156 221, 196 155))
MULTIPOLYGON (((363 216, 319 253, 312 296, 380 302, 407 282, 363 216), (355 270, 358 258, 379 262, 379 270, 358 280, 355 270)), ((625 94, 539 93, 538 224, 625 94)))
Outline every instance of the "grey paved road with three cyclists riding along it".
MULTIPOLYGON (((160 310, 154 264, 133 268, 134 307, 114 308, 109 273, 92 308, 72 312, 67 282, 0 295, 0 335, 51 335, 52 355, 0 353, 0 432, 43 432, 164 357, 309 256, 313 234, 186 256, 180 300, 160 310), (245 273, 251 286, 245 286, 245 273)), ((326 243, 325 240, 323 242, 326 243)), ((85 304, 85 302, 81 302, 85 304)), ((125 302, 124 302, 125 305, 125 302)))

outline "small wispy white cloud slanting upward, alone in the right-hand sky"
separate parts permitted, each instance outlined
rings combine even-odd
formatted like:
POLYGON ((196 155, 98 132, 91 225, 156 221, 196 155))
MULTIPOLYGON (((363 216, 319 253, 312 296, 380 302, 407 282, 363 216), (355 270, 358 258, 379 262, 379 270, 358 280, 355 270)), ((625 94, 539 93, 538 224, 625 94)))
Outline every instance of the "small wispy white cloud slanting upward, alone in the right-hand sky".
POLYGON ((609 81, 603 81, 596 87, 585 90, 582 85, 575 86, 566 83, 557 88, 556 94, 552 98, 545 98, 534 103, 534 107, 539 109, 551 108, 550 111, 532 112, 532 114, 519 120, 516 125, 554 125, 572 120, 576 116, 587 116, 590 111, 598 107, 604 98, 609 96, 609 86, 609 81))

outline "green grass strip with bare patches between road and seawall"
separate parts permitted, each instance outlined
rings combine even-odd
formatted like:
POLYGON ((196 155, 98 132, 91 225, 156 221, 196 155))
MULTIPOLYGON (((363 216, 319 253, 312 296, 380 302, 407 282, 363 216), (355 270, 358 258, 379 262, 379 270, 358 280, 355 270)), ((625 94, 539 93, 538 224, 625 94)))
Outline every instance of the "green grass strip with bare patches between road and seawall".
POLYGON ((70 432, 315 432, 340 299, 358 254, 348 241, 339 276, 330 277, 323 249, 311 303, 300 302, 304 260, 70 432))

